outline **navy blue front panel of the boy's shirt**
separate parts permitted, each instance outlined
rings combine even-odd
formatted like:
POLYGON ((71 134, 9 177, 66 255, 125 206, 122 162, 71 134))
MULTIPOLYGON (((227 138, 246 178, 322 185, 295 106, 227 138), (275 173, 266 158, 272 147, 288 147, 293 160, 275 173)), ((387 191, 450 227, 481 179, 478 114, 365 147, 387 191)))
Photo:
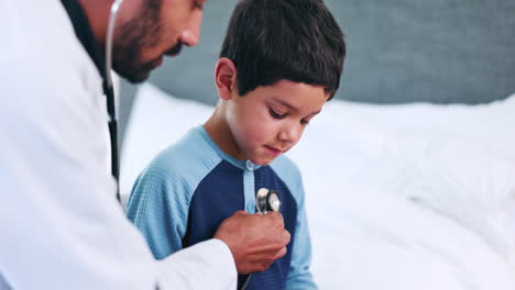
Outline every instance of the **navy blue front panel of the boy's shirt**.
MULTIPOLYGON (((297 202, 292 192, 270 166, 256 169, 254 180, 255 191, 260 188, 267 188, 278 192, 285 228, 292 234, 293 241, 297 220, 297 202)), ((243 170, 222 160, 200 181, 194 192, 189 205, 188 230, 183 241, 184 246, 195 245, 211 238, 224 219, 243 209, 243 170)), ((264 272, 253 274, 246 289, 285 289, 292 247, 293 243, 288 244, 287 254, 277 259, 264 272)), ((245 275, 239 276, 239 288, 245 277, 245 275)))

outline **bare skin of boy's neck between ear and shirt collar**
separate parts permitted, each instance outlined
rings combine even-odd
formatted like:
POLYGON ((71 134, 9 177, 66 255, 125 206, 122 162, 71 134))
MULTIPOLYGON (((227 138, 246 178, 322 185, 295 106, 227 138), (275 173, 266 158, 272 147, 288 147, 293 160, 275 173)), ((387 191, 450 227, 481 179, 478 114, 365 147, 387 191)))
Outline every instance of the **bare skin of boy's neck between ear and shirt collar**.
POLYGON ((224 118, 223 105, 217 105, 215 112, 204 124, 204 129, 208 133, 209 137, 215 142, 215 144, 220 147, 227 155, 234 157, 237 159, 244 160, 246 156, 240 150, 238 144, 234 141, 229 124, 224 118))

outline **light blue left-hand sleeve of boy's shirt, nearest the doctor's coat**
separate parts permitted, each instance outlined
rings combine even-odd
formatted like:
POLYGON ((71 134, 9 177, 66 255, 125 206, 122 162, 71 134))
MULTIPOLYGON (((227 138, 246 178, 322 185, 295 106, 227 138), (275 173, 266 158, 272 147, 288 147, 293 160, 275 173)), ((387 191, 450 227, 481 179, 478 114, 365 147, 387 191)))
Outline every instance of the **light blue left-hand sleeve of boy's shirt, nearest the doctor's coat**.
POLYGON ((129 197, 127 216, 143 233, 156 259, 183 248, 193 194, 221 160, 202 132, 194 127, 160 153, 129 197))

